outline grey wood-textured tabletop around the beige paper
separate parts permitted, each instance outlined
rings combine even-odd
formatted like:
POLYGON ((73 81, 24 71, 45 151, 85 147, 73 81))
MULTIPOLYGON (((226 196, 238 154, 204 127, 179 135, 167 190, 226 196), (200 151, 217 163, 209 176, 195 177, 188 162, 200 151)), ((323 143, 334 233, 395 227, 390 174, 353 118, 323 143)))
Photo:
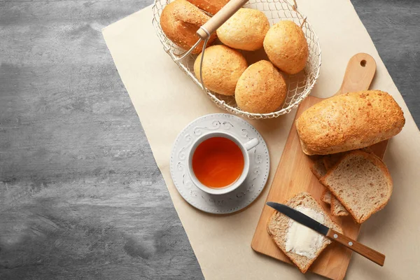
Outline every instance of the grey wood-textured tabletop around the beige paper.
MULTIPOLYGON (((353 0, 420 123, 420 2, 353 0)), ((101 29, 151 0, 0 0, 0 279, 202 279, 101 29)))

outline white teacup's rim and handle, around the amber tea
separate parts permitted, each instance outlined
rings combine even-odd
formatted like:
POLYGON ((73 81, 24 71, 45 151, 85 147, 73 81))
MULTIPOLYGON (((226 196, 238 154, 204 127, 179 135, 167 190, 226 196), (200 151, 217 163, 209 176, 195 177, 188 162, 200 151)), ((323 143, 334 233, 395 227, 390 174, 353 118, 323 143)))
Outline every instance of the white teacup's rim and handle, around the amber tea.
POLYGON ((188 153, 188 174, 190 175, 191 181, 193 181, 194 185, 197 186, 197 188, 200 188, 204 193, 209 193, 211 195, 224 195, 226 193, 230 193, 233 190, 237 189, 239 186, 241 186, 241 183, 244 183, 244 180, 246 179, 246 176, 248 176, 249 172, 249 155, 248 151, 254 148, 260 144, 260 141, 256 138, 253 138, 249 141, 247 141, 245 144, 242 144, 237 137, 233 136, 229 132, 208 132, 207 134, 203 134, 201 137, 197 138, 193 146, 191 146, 190 151, 188 153), (226 139, 230 139, 231 141, 235 142, 237 146, 241 149, 242 155, 244 155, 244 169, 242 170, 241 175, 239 178, 231 183, 228 186, 225 186, 223 188, 209 188, 207 186, 204 186, 195 176, 193 171, 193 155, 195 153, 195 149, 197 146, 199 146, 204 140, 213 138, 213 137, 224 137, 226 139))

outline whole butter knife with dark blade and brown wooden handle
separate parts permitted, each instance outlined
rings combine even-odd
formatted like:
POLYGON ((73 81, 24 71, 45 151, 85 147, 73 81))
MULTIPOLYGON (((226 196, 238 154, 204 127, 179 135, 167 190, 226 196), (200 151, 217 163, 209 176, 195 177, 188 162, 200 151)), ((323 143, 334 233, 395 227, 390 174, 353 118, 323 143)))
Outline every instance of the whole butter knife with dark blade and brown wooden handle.
POLYGON ((319 232, 321 235, 325 235, 325 237, 328 237, 329 239, 339 242, 352 251, 355 251, 356 253, 363 255, 363 257, 372 260, 372 262, 376 263, 377 265, 384 266, 384 254, 374 251, 372 248, 369 248, 359 243, 358 241, 351 239, 350 237, 346 237, 345 235, 342 235, 342 233, 332 230, 322 223, 318 223, 313 218, 291 207, 288 207, 287 205, 276 202, 267 202, 266 204, 276 211, 279 211, 281 214, 288 216, 294 221, 297 221, 297 223, 311 228, 312 230, 319 232))

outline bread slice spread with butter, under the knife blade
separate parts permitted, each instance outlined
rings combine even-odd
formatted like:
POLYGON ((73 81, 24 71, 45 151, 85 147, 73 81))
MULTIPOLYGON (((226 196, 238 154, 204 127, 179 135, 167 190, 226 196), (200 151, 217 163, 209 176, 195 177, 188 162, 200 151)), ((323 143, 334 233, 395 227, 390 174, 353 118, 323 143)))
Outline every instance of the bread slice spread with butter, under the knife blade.
MULTIPOLYGON (((321 204, 309 193, 295 195, 286 202, 286 205, 314 218, 328 228, 343 232, 342 228, 331 220, 321 204)), ((267 232, 302 273, 307 272, 318 255, 332 242, 328 237, 293 221, 278 211, 274 211, 274 214, 269 218, 267 232)))

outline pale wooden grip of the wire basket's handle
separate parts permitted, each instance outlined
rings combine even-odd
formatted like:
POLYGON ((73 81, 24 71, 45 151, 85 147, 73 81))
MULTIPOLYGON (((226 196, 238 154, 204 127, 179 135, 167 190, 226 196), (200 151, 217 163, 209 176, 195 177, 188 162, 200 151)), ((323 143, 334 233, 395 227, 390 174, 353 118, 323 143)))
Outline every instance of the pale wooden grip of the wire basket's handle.
POLYGON ((234 13, 239 10, 248 0, 230 0, 221 10, 216 13, 208 22, 204 23, 200 29, 197 30, 197 35, 203 40, 216 31, 223 23, 226 22, 234 13))

